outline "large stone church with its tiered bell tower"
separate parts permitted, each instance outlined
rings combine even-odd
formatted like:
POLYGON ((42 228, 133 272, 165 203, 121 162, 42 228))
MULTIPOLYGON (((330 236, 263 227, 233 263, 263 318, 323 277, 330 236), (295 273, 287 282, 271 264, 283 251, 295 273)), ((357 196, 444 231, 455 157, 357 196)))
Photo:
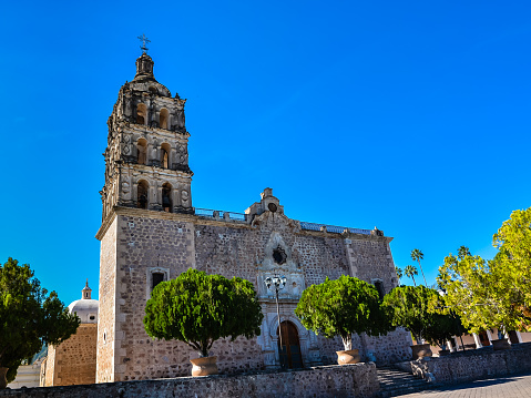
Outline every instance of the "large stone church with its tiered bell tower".
MULTIPOLYGON (((108 122, 95 381, 190 375, 197 354, 178 341, 152 340, 143 326, 153 287, 190 267, 248 279, 262 303, 259 337, 214 343, 221 373, 280 366, 275 292, 264 283, 274 275, 287 279, 279 293, 286 366, 336 363, 340 339, 316 336, 294 315, 300 294, 344 274, 389 292, 397 285, 392 238, 376 228, 292 220, 270 188, 245 213, 194 208, 186 100, 155 80, 153 64, 145 52, 136 60, 108 122)), ((404 330, 353 338, 364 359, 379 364, 407 359, 410 344, 404 330)))

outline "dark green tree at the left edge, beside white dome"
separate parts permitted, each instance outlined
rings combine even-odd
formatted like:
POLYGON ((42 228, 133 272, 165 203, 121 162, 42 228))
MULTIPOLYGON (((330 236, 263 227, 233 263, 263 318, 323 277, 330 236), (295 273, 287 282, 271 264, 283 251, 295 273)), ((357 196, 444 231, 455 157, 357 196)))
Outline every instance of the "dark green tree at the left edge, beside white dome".
MULTIPOLYGON (((80 319, 71 315, 55 292, 40 286, 28 264, 13 258, 0 265, 0 367, 12 381, 22 360, 43 345, 58 345, 75 333, 80 319)), ((2 380, 0 380, 0 386, 2 380)))

